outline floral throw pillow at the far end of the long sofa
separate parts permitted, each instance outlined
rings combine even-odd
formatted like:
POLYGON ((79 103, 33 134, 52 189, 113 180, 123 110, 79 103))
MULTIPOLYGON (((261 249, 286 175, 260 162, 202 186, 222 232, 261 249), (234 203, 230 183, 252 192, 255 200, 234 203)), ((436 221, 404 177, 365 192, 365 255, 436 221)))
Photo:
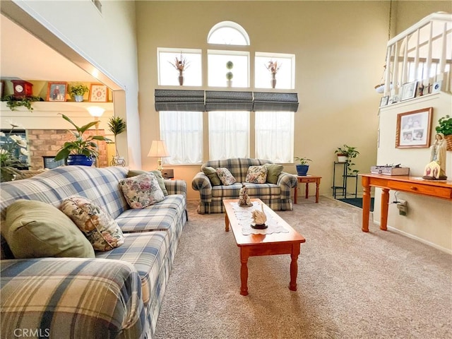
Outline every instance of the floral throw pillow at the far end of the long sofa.
POLYGON ((165 200, 165 195, 153 173, 143 173, 119 182, 130 208, 145 208, 165 200))

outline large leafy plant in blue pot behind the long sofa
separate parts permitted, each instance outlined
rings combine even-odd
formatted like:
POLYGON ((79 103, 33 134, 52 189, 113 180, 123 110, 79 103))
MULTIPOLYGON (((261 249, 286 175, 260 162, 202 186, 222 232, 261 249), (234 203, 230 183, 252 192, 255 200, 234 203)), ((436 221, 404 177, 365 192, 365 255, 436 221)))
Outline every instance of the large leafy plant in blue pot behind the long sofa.
POLYGON ((99 121, 91 121, 88 124, 79 127, 74 124, 69 117, 66 117, 66 115, 61 114, 61 116, 64 120, 69 121, 69 123, 74 126, 77 131, 70 131, 75 137, 75 140, 66 141, 63 147, 59 149, 57 155, 55 155, 54 160, 67 160, 67 165, 93 165, 93 162, 99 155, 99 152, 97 151, 97 143, 94 141, 111 141, 109 138, 105 138, 105 136, 83 137, 83 133, 98 124, 99 121))

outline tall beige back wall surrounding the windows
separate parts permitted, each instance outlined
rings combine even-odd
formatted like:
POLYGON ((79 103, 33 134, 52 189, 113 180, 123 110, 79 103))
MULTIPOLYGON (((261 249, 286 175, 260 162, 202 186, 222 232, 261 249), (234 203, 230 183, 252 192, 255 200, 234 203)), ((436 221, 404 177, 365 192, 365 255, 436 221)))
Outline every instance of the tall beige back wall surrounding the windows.
MULTIPOLYGON (((309 172, 323 177, 321 194, 331 195, 334 150, 343 143, 361 152, 357 168, 368 172, 376 161, 380 81, 386 52, 386 1, 139 1, 138 68, 143 168, 155 168, 146 157, 159 137, 153 93, 157 86, 157 47, 209 48, 213 25, 232 20, 244 27, 253 52, 292 53, 299 110, 295 114, 295 156, 314 160, 309 172)), ((210 47, 212 48, 212 47, 210 47)), ((172 166, 168 166, 172 167, 172 166)), ((200 166, 174 168, 191 179, 200 166)), ((295 173, 295 165, 286 164, 295 173)))

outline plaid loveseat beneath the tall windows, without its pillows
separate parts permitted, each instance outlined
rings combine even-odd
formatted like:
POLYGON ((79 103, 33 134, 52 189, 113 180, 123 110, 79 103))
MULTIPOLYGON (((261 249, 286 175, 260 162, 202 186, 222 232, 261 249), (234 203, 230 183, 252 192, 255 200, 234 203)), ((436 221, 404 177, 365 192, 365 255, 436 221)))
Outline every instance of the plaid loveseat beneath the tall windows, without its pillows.
POLYGON ((198 213, 225 213, 222 200, 238 199, 242 183, 246 184, 250 198, 260 198, 272 210, 292 210, 290 189, 297 186, 297 177, 295 175, 281 172, 277 184, 251 184, 245 182, 248 167, 271 163, 270 160, 238 157, 225 160, 210 160, 203 164, 201 169, 208 166, 213 168, 226 167, 237 182, 230 186, 212 186, 207 175, 202 171, 198 172, 191 182, 191 187, 195 191, 199 191, 200 195, 198 213))

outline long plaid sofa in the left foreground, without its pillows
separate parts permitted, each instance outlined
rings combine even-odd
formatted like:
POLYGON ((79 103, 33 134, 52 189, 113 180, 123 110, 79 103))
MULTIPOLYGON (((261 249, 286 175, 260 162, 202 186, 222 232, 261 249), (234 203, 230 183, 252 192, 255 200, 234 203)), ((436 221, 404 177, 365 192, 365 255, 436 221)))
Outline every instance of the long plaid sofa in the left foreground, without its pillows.
POLYGON ((165 180, 164 201, 131 210, 119 188, 126 177, 124 167, 66 166, 1 184, 2 223, 19 198, 58 207, 82 195, 105 208, 125 238, 96 258, 15 259, 1 237, 1 338, 153 338, 187 221, 186 182, 165 180))

